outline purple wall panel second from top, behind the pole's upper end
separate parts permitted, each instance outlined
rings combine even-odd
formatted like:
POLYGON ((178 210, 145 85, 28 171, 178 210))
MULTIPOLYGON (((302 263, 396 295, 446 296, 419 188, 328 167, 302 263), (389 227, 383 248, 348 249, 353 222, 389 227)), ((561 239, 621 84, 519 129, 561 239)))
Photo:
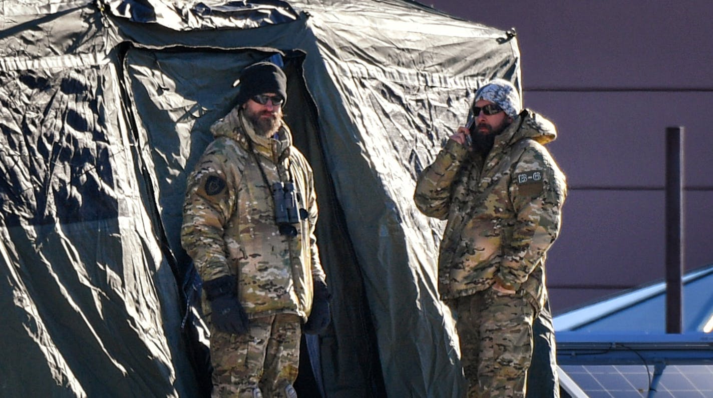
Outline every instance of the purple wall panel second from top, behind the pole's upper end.
POLYGON ((684 127, 685 183, 713 188, 712 93, 525 92, 558 127, 551 151, 575 187, 665 184, 666 128, 684 127), (695 105, 694 107, 692 105, 695 105))

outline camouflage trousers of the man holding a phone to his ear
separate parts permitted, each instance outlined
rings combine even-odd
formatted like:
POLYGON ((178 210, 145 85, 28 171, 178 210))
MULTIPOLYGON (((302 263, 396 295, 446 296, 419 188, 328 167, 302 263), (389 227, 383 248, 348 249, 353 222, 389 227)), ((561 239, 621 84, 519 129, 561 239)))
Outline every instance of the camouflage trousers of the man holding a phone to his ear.
POLYGON ((535 309, 493 289, 446 302, 456 318, 468 398, 525 397, 535 309))

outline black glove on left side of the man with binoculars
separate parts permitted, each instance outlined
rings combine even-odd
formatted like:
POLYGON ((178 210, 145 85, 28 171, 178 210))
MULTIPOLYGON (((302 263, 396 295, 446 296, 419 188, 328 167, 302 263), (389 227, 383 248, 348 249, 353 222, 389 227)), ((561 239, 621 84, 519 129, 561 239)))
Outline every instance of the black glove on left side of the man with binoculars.
POLYGON ((235 295, 235 278, 218 277, 203 282, 205 295, 213 311, 212 322, 221 332, 244 335, 247 332, 247 314, 235 295))

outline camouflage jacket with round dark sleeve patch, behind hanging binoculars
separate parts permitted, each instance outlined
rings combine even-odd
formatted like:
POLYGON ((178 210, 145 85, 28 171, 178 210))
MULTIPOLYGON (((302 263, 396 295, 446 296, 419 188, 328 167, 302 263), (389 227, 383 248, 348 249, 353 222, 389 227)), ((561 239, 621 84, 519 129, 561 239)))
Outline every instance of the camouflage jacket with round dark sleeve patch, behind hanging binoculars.
POLYGON ((215 140, 188 177, 181 243, 202 280, 237 277, 237 295, 249 317, 289 312, 306 320, 313 281, 324 281, 314 237, 312 168, 292 146, 284 124, 278 139, 257 137, 248 126, 240 107, 211 126, 215 140), (303 209, 294 238, 279 233, 270 188, 289 180, 303 209))

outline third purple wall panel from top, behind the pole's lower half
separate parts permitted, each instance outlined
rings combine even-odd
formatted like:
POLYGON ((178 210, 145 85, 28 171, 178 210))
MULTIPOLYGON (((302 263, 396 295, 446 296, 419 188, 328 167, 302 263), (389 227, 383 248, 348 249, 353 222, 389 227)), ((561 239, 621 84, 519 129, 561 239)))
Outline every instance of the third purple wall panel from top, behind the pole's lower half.
MULTIPOLYGON (((684 270, 713 264, 711 203, 713 192, 684 195, 684 270)), ((548 287, 560 292, 553 295, 553 307, 581 305, 592 292, 664 280, 665 240, 663 192, 571 191, 547 262, 548 287)))

